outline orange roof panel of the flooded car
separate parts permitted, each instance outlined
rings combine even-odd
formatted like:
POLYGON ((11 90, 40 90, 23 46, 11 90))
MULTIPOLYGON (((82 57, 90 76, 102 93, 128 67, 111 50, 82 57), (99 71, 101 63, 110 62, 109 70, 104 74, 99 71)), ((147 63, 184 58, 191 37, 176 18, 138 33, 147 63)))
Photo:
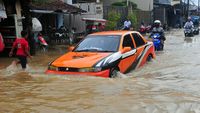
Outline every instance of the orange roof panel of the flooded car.
POLYGON ((103 32, 96 32, 90 35, 124 35, 127 33, 138 33, 137 31, 125 31, 125 30, 118 30, 118 31, 103 31, 103 32))

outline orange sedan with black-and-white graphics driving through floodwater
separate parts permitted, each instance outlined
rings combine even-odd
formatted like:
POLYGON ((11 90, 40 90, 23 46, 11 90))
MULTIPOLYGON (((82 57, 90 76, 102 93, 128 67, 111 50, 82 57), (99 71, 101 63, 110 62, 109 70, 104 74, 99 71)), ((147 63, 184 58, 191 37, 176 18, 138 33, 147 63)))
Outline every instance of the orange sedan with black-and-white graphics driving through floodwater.
POLYGON ((155 58, 152 42, 136 31, 90 34, 72 51, 49 63, 48 74, 116 77, 155 58))

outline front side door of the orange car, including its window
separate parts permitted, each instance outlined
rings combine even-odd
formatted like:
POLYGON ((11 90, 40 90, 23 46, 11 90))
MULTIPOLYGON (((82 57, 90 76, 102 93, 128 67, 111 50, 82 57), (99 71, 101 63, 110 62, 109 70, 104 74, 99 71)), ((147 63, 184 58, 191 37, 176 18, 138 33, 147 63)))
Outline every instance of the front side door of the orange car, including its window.
POLYGON ((136 49, 133 42, 133 38, 131 37, 131 34, 126 34, 123 37, 122 41, 122 48, 124 47, 131 47, 131 51, 123 53, 122 60, 119 63, 119 68, 121 72, 127 72, 129 69, 131 69, 132 64, 134 63, 136 56, 136 49))

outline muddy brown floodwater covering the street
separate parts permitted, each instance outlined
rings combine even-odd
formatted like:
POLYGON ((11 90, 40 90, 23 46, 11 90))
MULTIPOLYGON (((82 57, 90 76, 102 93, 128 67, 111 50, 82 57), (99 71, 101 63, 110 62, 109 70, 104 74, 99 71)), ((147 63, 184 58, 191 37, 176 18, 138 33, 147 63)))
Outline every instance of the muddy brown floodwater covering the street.
POLYGON ((155 60, 116 79, 45 75, 65 49, 34 56, 26 72, 0 57, 0 112, 200 113, 200 37, 166 34, 155 60))

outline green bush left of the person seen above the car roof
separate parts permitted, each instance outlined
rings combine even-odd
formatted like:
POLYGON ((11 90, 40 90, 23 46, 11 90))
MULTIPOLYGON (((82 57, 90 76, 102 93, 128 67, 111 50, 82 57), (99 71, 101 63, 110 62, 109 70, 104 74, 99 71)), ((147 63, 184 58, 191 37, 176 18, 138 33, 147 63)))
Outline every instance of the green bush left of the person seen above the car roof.
POLYGON ((120 20, 121 15, 116 11, 110 11, 108 13, 108 22, 106 23, 106 30, 114 30, 117 27, 117 23, 120 20))

